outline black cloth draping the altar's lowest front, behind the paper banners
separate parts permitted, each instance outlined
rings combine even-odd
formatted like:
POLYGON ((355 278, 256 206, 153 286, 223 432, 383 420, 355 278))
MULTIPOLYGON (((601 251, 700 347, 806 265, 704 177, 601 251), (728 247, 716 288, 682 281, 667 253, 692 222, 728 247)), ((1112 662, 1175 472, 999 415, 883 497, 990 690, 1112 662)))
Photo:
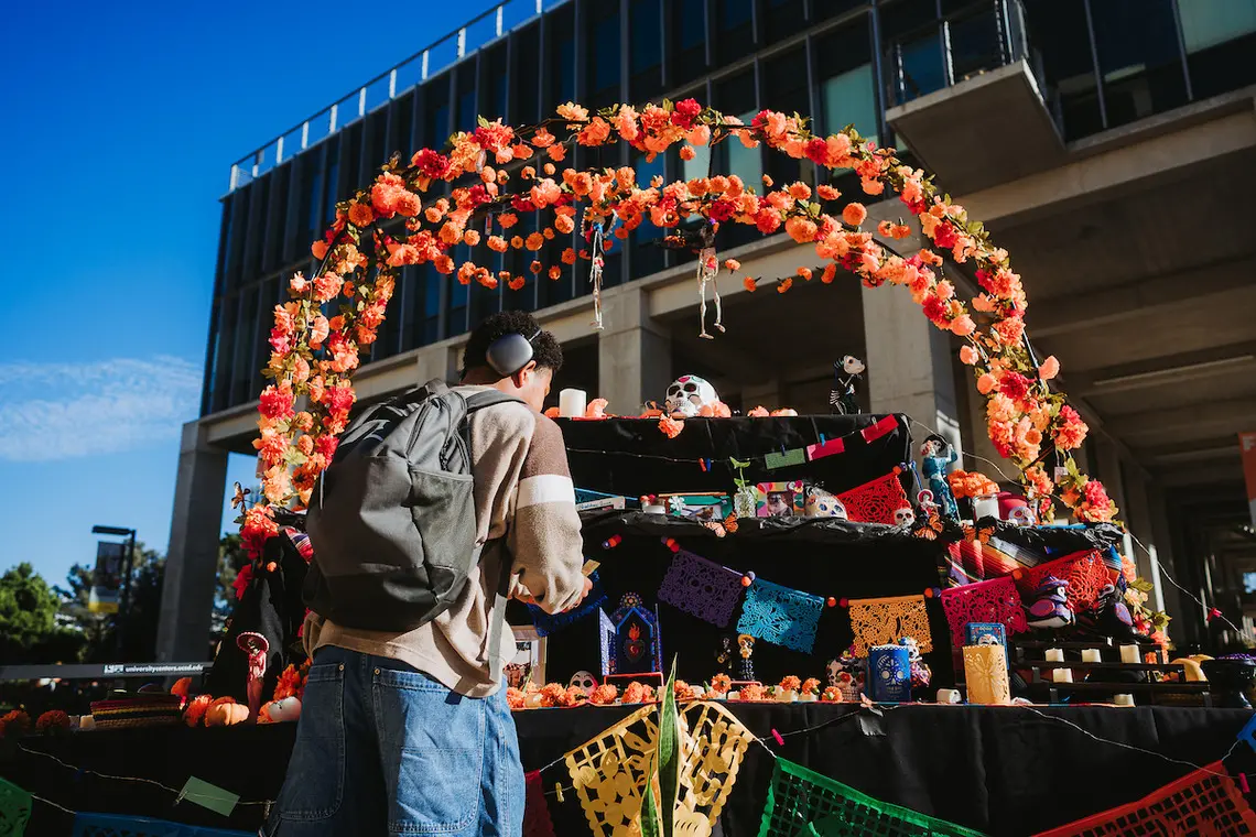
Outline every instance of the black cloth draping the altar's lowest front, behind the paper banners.
MULTIPOLYGON (((1243 710, 1187 708, 903 705, 885 710, 880 719, 883 735, 870 735, 854 720, 859 710, 853 705, 730 706, 785 758, 877 799, 997 837, 1032 834, 1133 802, 1192 770, 1096 742, 1085 733, 1206 765, 1231 749, 1251 717, 1243 710), (816 727, 810 733, 791 734, 816 727), (784 747, 774 743, 772 729, 785 737, 784 747)), ((516 713, 524 768, 549 764, 631 710, 605 706, 516 713)), ((226 818, 187 802, 175 806, 173 794, 151 784, 106 779, 87 770, 148 778, 175 788, 196 776, 240 793, 244 802, 274 799, 295 732, 295 724, 273 724, 30 738, 23 740, 25 749, 15 749, 11 743, 6 747, 0 757, 0 776, 75 811, 250 831, 261 821, 261 806, 237 807, 226 818)), ((1256 759, 1241 745, 1227 759, 1227 767, 1232 772, 1253 770, 1256 759)), ((751 745, 721 817, 723 834, 759 832, 771 772, 771 755, 751 745)), ((558 834, 588 834, 566 768, 550 768, 543 781, 549 789, 555 782, 568 788, 563 803, 549 797, 558 834)), ((69 814, 35 802, 28 834, 58 837, 72 829, 69 814)))

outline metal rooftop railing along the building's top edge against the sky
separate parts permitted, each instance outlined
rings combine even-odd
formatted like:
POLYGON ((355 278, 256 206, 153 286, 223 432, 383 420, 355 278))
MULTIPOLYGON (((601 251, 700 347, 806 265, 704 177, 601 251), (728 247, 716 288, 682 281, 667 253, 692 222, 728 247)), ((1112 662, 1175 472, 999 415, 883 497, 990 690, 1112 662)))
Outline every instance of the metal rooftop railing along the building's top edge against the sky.
POLYGON ((505 0, 231 164, 234 192, 568 0, 505 0))

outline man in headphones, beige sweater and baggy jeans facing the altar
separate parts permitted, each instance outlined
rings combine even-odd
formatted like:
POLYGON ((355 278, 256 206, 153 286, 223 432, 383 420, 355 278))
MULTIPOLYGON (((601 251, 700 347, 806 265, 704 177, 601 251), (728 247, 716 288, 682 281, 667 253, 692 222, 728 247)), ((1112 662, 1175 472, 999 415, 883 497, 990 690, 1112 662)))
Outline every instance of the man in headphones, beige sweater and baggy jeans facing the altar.
POLYGON ((497 648, 490 637, 505 616, 505 602, 495 606, 502 561, 512 562, 511 595, 549 612, 575 606, 590 587, 563 435, 540 414, 561 365, 554 335, 529 314, 495 314, 471 334, 457 389, 524 402, 468 419, 477 536, 487 543, 479 572, 452 607, 408 632, 306 617, 313 664, 264 836, 521 833, 524 773, 502 690, 515 640, 509 629, 497 648), (502 376, 489 350, 510 334, 531 344, 531 360, 502 376))

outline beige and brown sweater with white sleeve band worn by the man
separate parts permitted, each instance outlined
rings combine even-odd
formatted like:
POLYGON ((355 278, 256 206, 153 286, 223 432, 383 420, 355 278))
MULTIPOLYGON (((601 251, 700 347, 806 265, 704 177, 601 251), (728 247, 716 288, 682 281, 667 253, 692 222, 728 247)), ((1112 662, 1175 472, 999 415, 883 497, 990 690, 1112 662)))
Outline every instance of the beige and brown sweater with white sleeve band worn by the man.
MULTIPOLYGON (((484 387, 458 387, 470 395, 484 387)), ((479 542, 489 543, 453 606, 412 631, 340 627, 317 614, 305 620, 305 650, 335 645, 413 665, 453 691, 485 698, 501 686, 515 637, 505 625, 490 649, 494 619, 505 619, 495 595, 501 561, 512 560, 512 592, 526 592, 548 612, 579 601, 584 587, 580 517, 563 433, 522 404, 499 404, 471 415, 479 542)))

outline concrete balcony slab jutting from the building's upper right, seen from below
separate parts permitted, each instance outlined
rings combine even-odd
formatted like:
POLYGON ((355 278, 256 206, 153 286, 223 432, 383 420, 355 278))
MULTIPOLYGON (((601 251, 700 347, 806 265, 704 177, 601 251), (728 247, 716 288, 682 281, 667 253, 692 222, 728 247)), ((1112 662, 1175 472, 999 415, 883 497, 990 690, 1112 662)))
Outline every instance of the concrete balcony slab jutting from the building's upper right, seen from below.
POLYGON ((1024 60, 891 108, 885 119, 951 195, 1019 179, 1065 156, 1024 60))

